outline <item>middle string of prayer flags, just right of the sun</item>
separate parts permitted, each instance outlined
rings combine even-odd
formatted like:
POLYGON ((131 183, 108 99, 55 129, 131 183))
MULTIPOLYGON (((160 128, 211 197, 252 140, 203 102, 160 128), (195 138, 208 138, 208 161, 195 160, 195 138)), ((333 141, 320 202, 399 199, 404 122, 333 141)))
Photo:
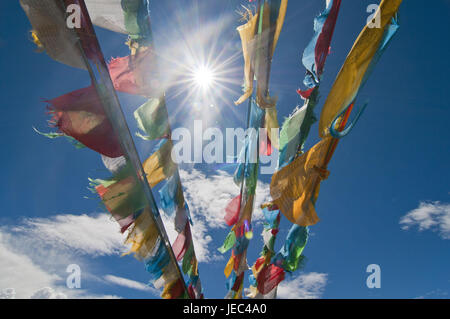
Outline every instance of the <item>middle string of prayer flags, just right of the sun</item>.
MULTIPOLYGON (((276 100, 269 96, 269 78, 272 57, 278 42, 279 35, 284 23, 287 10, 287 0, 264 0, 255 15, 247 9, 244 14, 248 22, 238 28, 241 37, 243 55, 245 61, 244 69, 244 94, 235 103, 241 104, 253 94, 253 81, 257 82, 256 101, 249 100, 249 111, 247 114, 248 128, 268 129, 269 140, 263 145, 263 152, 267 153, 272 147, 278 147, 278 136, 272 136, 272 128, 278 128, 276 100), (262 119, 264 117, 264 119, 262 119), (261 119, 260 119, 261 118, 261 119), (264 121, 264 122, 263 122, 264 121), (270 145, 270 146, 269 146, 270 145)), ((248 134, 246 138, 249 138, 248 134)), ((261 141, 256 134, 259 146, 261 141)), ((233 266, 233 282, 228 282, 229 292, 226 298, 240 299, 243 293, 244 275, 248 270, 247 247, 249 240, 253 237, 251 229, 252 213, 256 185, 258 180, 259 150, 248 147, 250 141, 244 146, 244 165, 240 164, 236 171, 234 180, 241 185, 239 217, 237 214, 227 212, 227 223, 236 223, 235 243, 232 250, 232 261, 227 264, 225 275, 229 275, 231 262, 233 266), (253 162, 250 159, 256 157, 253 162)), ((232 231, 233 231, 232 230, 232 231)))

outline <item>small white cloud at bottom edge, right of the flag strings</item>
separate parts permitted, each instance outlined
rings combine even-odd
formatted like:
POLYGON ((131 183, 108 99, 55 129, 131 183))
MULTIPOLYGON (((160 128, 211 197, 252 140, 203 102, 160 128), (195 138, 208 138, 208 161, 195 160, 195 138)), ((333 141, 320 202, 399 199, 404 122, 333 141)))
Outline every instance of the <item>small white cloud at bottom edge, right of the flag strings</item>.
POLYGON ((328 275, 311 272, 290 281, 283 281, 278 287, 279 299, 318 299, 323 295, 328 275))

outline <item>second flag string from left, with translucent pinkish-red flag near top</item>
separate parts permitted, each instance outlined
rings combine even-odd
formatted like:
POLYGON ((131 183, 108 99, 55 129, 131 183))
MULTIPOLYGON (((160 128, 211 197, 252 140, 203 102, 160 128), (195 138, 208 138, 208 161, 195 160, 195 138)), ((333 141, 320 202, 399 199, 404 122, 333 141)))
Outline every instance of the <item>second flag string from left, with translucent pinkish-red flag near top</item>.
MULTIPOLYGON (((92 4, 99 3, 98 0, 90 1, 92 4)), ((190 228, 192 219, 189 206, 184 199, 178 167, 172 161, 173 143, 164 94, 159 91, 158 81, 155 79, 158 72, 156 54, 152 47, 148 1, 121 0, 121 7, 123 12, 120 12, 117 0, 110 2, 108 10, 112 13, 112 20, 107 23, 104 11, 98 10, 99 7, 92 8, 96 11, 95 21, 99 26, 114 28, 119 32, 125 29, 125 33, 129 35, 127 44, 131 51, 130 56, 111 60, 109 72, 116 90, 149 97, 149 100, 134 113, 139 130, 146 135, 141 133, 136 135, 144 140, 162 140, 153 155, 144 162, 143 168, 152 187, 166 181, 160 189, 161 207, 168 215, 174 217, 175 230, 178 233, 173 243, 175 259, 182 263, 183 273, 189 276, 187 292, 180 296, 202 298, 198 261, 190 228)), ((176 278, 164 283, 159 280, 156 282, 159 286, 165 286, 163 297, 176 298, 179 295, 173 292, 179 287, 176 278)))

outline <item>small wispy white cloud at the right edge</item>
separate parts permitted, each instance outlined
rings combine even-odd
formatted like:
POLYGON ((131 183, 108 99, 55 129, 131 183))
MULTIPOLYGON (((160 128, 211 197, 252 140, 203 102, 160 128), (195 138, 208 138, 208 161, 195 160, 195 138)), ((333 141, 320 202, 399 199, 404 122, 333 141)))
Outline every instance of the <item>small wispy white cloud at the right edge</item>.
POLYGON ((404 230, 417 226, 419 231, 431 230, 443 239, 450 239, 450 204, 421 202, 400 219, 400 225, 404 230))

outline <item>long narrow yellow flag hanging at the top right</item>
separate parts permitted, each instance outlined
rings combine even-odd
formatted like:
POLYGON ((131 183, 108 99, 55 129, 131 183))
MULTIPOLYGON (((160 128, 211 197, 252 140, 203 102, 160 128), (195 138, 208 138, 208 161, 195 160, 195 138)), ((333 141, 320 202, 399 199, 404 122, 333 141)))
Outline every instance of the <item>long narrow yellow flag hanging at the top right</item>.
POLYGON ((366 25, 356 39, 322 109, 319 121, 319 134, 322 138, 329 135, 329 128, 336 116, 356 98, 370 63, 378 51, 384 31, 401 3, 402 0, 381 1, 374 18, 375 21, 380 21, 380 28, 370 28, 366 25))

